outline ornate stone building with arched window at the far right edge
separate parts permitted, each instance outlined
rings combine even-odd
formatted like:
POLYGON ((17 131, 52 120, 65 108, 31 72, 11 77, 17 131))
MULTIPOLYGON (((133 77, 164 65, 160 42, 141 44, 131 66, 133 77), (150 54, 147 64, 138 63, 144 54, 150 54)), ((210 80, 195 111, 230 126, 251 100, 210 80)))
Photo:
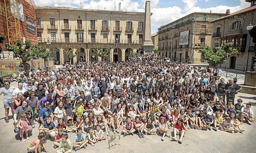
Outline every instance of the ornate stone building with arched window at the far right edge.
POLYGON ((246 1, 251 3, 250 7, 231 14, 227 10, 226 16, 209 22, 213 27, 211 40, 213 50, 226 42, 233 42, 233 48, 238 50, 235 56, 229 57, 224 64, 220 65, 222 68, 250 70, 252 67, 256 46, 246 26, 250 23, 256 24, 256 0, 246 1))

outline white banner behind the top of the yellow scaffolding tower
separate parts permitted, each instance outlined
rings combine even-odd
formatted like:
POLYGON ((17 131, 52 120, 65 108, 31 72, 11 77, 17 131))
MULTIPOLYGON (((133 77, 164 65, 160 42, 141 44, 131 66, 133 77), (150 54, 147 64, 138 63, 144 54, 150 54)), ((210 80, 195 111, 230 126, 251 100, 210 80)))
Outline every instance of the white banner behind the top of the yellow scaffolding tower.
POLYGON ((15 16, 17 19, 24 21, 24 13, 23 13, 23 4, 17 0, 10 0, 11 3, 11 13, 15 11, 15 16))

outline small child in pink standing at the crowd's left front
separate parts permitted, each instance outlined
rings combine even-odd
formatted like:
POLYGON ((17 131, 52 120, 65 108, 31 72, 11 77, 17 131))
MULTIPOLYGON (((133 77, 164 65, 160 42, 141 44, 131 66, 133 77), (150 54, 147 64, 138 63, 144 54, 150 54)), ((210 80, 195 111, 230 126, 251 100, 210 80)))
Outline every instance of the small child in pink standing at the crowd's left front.
POLYGON ((24 132, 26 134, 27 140, 29 140, 29 120, 27 120, 26 118, 26 114, 22 113, 20 115, 20 121, 17 124, 17 126, 20 128, 20 137, 22 138, 22 142, 26 142, 26 140, 24 139, 24 132))

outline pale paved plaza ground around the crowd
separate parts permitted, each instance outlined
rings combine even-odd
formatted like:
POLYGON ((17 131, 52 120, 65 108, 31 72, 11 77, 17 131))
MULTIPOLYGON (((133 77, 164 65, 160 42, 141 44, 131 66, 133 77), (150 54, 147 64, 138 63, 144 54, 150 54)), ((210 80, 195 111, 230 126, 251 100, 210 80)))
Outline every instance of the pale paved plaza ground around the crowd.
MULTIPOLYGON (((17 87, 16 82, 12 82, 11 86, 17 87)), ((243 99, 243 104, 252 103, 253 112, 256 113, 256 96, 251 94, 238 93, 235 101, 238 98, 243 99)), ((26 148, 38 135, 38 126, 33 129, 32 136, 30 134, 30 140, 21 142, 16 133, 13 132, 13 120, 9 114, 9 123, 4 121, 4 108, 3 108, 3 94, 0 96, 0 153, 27 153, 26 148)), ((122 153, 151 153, 151 152, 186 152, 186 153, 227 153, 227 152, 247 152, 255 153, 256 151, 256 123, 252 125, 244 122, 242 124, 243 133, 227 133, 218 130, 195 130, 190 129, 186 132, 182 144, 174 142, 168 137, 165 137, 164 142, 161 141, 161 136, 145 136, 145 138, 139 138, 137 134, 134 136, 123 137, 122 134, 110 133, 109 136, 105 136, 106 140, 98 142, 92 147, 90 144, 86 149, 78 150, 77 153, 87 152, 122 152, 122 153)), ((120 130, 121 131, 121 130, 120 130)), ((173 130, 169 129, 168 134, 173 135, 173 130)), ((75 134, 69 133, 69 139, 73 141, 75 134)), ((53 149, 53 141, 47 139, 46 146, 50 153, 55 153, 58 149, 53 149)), ((75 152, 75 151, 72 151, 75 152)))

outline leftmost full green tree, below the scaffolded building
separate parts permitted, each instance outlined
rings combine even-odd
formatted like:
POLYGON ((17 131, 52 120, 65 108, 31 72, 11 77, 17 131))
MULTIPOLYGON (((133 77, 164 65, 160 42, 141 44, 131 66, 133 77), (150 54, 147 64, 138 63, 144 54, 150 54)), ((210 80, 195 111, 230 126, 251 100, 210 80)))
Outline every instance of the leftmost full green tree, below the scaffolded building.
POLYGON ((5 43, 5 46, 6 50, 13 52, 14 58, 20 58, 22 60, 25 72, 27 72, 26 62, 31 59, 37 58, 38 50, 30 50, 30 47, 32 46, 30 40, 26 40, 25 43, 23 43, 21 40, 17 40, 14 41, 14 45, 9 45, 8 43, 5 43))

